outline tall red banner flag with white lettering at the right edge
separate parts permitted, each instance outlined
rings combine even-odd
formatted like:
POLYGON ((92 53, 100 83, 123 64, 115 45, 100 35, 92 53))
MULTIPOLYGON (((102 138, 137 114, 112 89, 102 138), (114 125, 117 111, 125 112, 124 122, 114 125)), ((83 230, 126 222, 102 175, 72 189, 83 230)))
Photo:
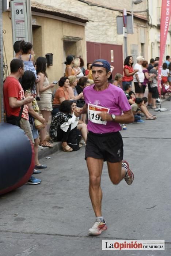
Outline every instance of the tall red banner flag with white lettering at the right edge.
POLYGON ((160 82, 161 82, 161 69, 163 63, 163 55, 166 46, 168 27, 171 16, 171 0, 162 0, 161 4, 161 24, 160 24, 160 60, 158 69, 158 91, 161 95, 160 82))

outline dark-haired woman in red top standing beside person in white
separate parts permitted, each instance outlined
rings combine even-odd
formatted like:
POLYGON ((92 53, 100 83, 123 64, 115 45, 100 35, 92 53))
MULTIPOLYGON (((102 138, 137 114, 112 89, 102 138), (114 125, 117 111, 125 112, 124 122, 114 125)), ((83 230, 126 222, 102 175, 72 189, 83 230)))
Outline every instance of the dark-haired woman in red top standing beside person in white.
POLYGON ((122 79, 122 89, 125 91, 125 84, 130 84, 132 86, 132 80, 133 80, 133 75, 138 71, 137 69, 133 69, 133 57, 132 56, 127 56, 125 61, 124 61, 124 67, 123 67, 123 79, 122 79))

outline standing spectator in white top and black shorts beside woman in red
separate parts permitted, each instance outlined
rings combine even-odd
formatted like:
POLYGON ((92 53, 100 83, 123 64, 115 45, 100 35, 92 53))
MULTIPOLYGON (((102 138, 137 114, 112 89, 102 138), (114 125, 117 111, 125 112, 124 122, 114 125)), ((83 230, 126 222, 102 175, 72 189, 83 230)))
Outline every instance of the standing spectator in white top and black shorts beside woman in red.
POLYGON ((134 65, 134 69, 138 69, 138 71, 134 75, 134 86, 135 86, 135 93, 136 98, 143 97, 143 87, 142 84, 144 82, 144 73, 142 72, 142 61, 144 58, 142 56, 137 57, 137 63, 134 65))

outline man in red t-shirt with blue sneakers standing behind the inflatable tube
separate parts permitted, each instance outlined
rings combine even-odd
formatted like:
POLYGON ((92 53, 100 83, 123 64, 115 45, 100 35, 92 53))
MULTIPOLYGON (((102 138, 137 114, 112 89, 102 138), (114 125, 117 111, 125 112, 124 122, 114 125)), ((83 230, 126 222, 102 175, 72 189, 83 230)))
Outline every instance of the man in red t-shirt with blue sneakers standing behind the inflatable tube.
MULTIPOLYGON (((4 82, 4 108, 7 116, 7 122, 16 124, 24 130, 28 138, 34 144, 33 135, 28 121, 28 106, 27 104, 33 101, 33 96, 24 97, 24 91, 19 83, 19 78, 24 74, 24 64, 22 60, 13 59, 10 63, 11 74, 4 82), (23 106, 23 108, 22 108, 23 106), (20 118, 20 112, 21 118, 20 118)), ((41 180, 33 176, 27 182, 28 184, 39 184, 41 180)))

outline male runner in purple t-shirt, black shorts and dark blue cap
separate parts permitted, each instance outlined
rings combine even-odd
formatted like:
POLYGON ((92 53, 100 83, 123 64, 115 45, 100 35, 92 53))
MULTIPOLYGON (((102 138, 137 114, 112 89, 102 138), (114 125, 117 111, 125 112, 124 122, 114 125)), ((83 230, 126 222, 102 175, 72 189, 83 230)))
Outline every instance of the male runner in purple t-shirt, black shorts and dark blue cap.
POLYGON ((98 236, 107 229, 101 210, 100 180, 103 162, 107 161, 109 177, 113 184, 118 184, 124 178, 127 184, 131 185, 134 180, 128 162, 122 161, 123 142, 119 133, 120 124, 133 123, 134 116, 123 90, 108 82, 110 75, 108 61, 94 61, 92 76, 95 84, 84 89, 86 104, 83 108, 75 110, 76 116, 88 113, 89 133, 85 159, 90 176, 89 194, 96 216, 94 225, 88 230, 88 234, 92 236, 98 236))

